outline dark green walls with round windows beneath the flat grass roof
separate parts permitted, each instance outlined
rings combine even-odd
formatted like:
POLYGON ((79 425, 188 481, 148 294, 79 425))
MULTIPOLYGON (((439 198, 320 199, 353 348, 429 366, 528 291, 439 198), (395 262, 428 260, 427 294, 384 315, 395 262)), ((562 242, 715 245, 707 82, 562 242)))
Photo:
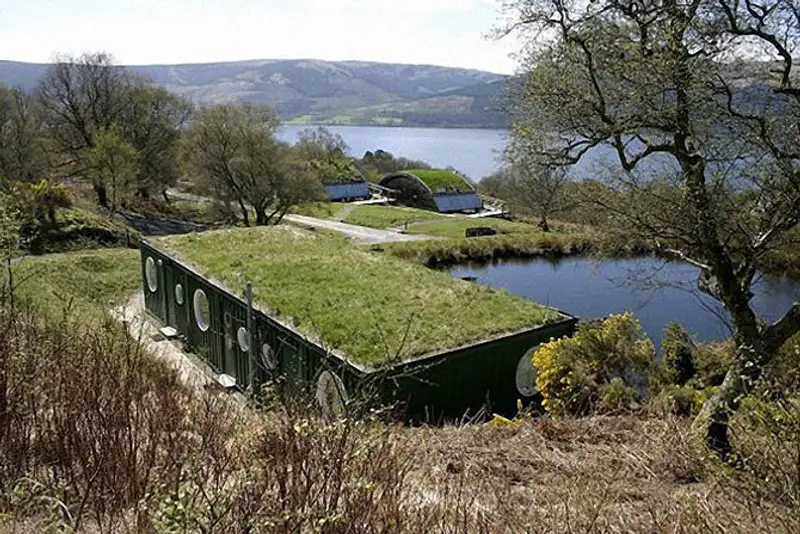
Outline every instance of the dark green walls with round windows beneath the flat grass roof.
POLYGON ((527 402, 536 394, 531 351, 542 342, 571 334, 577 321, 553 312, 546 324, 402 361, 365 364, 326 347, 324 339, 259 304, 250 308, 248 330, 244 287, 224 285, 190 263, 169 247, 143 241, 145 305, 214 372, 233 377, 240 389, 277 377, 287 387, 300 388, 319 388, 333 379, 350 397, 369 389, 373 400, 396 404, 406 419, 415 421, 457 418, 487 406, 495 413, 514 413, 518 400, 527 402))

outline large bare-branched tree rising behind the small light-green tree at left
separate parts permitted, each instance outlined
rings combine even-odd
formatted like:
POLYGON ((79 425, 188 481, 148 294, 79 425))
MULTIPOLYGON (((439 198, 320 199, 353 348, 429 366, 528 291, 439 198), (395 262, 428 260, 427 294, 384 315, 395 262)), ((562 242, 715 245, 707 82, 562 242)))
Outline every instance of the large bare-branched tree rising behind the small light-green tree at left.
MULTIPOLYGON (((177 180, 179 131, 191 112, 186 100, 149 86, 103 53, 59 58, 38 93, 63 174, 91 178, 85 156, 98 133, 113 127, 136 151, 138 194, 163 194, 177 180)), ((108 207, 103 182, 91 181, 98 203, 108 207)))

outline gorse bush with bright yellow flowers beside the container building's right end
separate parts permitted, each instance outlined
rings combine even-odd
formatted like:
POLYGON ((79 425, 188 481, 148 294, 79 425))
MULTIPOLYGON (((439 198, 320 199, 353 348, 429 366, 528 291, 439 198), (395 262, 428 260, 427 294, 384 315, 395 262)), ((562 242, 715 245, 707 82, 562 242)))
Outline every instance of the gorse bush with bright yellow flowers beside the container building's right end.
POLYGON ((573 337, 545 343, 533 355, 542 405, 560 415, 636 408, 655 356, 631 313, 582 323, 573 337))

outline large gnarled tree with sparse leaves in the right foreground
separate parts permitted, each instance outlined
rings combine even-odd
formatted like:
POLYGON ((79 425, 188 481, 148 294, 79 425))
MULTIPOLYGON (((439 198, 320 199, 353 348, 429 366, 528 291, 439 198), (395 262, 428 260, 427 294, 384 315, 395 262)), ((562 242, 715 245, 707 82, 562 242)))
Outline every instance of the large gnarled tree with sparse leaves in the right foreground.
POLYGON ((531 36, 512 135, 542 146, 547 165, 610 147, 624 201, 600 206, 629 235, 697 266, 698 287, 730 315, 734 363, 696 420, 729 458, 731 415, 800 330, 800 304, 766 324, 750 303, 759 266, 800 222, 797 4, 518 0, 509 9, 509 31, 531 36), (746 61, 746 50, 770 60, 746 61))

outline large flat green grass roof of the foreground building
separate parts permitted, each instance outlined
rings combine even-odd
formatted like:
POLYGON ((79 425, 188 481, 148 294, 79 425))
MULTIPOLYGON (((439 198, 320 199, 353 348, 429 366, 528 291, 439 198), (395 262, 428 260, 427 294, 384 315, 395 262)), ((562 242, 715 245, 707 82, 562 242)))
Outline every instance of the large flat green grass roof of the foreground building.
POLYGON ((172 236, 155 244, 235 294, 252 282, 264 312, 367 367, 563 318, 505 291, 288 227, 172 236))

